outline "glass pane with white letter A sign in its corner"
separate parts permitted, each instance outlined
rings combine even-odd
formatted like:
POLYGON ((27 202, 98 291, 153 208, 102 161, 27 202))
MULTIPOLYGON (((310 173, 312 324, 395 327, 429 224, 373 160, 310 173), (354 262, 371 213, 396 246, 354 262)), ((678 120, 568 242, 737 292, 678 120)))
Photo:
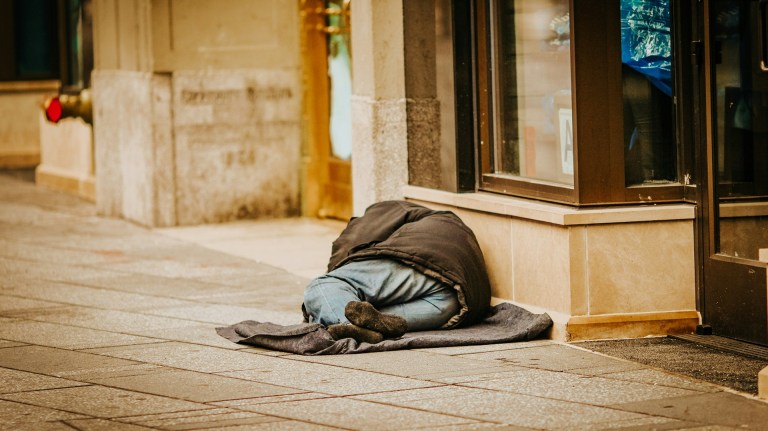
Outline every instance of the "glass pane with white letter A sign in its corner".
POLYGON ((568 0, 498 2, 497 173, 573 185, 568 0))

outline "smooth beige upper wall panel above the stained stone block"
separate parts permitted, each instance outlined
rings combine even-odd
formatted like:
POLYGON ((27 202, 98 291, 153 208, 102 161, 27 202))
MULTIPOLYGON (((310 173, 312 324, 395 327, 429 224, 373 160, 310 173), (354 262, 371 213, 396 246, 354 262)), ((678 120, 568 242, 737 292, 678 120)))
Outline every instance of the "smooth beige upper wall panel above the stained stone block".
POLYGON ((299 1, 151 3, 156 71, 298 66, 299 1))

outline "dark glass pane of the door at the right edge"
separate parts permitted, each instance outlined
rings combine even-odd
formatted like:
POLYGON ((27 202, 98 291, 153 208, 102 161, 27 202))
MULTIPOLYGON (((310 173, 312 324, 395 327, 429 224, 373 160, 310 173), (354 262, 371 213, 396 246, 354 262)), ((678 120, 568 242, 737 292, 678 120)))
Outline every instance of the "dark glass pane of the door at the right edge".
POLYGON ((768 251, 768 73, 760 69, 757 1, 712 3, 718 251, 768 251))

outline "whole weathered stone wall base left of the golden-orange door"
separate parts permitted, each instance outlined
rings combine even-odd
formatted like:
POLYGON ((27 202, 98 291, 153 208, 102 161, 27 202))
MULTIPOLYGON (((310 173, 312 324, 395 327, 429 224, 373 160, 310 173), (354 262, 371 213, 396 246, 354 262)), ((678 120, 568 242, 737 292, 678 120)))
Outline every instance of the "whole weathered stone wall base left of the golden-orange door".
POLYGON ((148 226, 297 215, 298 79, 294 69, 94 72, 100 213, 148 226))

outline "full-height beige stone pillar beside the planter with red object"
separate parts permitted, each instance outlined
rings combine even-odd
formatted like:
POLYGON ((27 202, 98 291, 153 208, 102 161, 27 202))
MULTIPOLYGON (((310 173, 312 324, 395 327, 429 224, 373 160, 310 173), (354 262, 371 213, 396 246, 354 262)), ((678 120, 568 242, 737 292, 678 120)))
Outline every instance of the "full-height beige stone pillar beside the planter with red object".
POLYGON ((170 78, 152 73, 151 8, 150 0, 93 3, 96 206, 163 226, 176 223, 170 78))

